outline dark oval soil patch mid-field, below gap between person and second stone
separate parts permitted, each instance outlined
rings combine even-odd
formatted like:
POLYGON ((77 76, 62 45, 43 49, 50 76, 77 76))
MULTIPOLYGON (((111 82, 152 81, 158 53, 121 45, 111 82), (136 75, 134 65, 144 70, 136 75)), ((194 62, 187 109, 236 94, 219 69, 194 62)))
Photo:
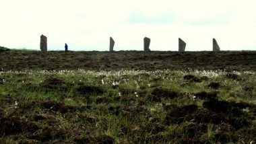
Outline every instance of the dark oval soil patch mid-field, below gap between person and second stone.
POLYGON ((81 85, 77 88, 77 92, 80 94, 102 95, 104 93, 104 89, 94 85, 81 85))

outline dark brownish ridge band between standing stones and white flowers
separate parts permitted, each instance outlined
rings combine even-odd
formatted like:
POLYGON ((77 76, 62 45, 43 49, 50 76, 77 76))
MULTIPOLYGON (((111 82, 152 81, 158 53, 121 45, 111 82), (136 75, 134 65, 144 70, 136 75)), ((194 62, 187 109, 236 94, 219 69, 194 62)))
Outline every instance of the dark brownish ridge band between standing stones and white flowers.
POLYGON ((4 71, 77 70, 119 71, 135 69, 156 71, 218 70, 256 71, 256 51, 7 51, 1 52, 0 68, 4 71))

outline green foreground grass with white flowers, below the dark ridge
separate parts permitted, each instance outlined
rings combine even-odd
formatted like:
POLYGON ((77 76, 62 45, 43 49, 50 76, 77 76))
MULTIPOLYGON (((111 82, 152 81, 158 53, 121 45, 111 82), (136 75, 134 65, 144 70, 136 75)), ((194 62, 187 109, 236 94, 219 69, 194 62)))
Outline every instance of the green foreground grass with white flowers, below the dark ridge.
POLYGON ((0 71, 0 143, 255 143, 254 71, 0 71))

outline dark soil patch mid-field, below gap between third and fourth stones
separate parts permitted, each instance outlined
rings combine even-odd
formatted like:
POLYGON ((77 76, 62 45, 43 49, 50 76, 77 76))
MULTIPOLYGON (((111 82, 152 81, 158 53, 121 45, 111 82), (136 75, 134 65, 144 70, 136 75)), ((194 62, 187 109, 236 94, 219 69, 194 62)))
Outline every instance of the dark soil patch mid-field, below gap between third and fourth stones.
POLYGON ((179 96, 179 93, 176 91, 172 91, 170 89, 162 89, 162 88, 155 88, 151 94, 152 94, 152 97, 149 97, 149 98, 155 102, 160 102, 162 98, 173 99, 179 96))

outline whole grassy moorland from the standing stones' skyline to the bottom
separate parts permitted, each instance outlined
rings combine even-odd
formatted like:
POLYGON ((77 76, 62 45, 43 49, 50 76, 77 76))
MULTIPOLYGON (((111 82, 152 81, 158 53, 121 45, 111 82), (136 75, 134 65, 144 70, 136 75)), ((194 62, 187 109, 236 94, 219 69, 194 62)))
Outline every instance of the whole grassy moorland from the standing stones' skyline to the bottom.
POLYGON ((256 143, 256 52, 0 51, 0 143, 256 143))

